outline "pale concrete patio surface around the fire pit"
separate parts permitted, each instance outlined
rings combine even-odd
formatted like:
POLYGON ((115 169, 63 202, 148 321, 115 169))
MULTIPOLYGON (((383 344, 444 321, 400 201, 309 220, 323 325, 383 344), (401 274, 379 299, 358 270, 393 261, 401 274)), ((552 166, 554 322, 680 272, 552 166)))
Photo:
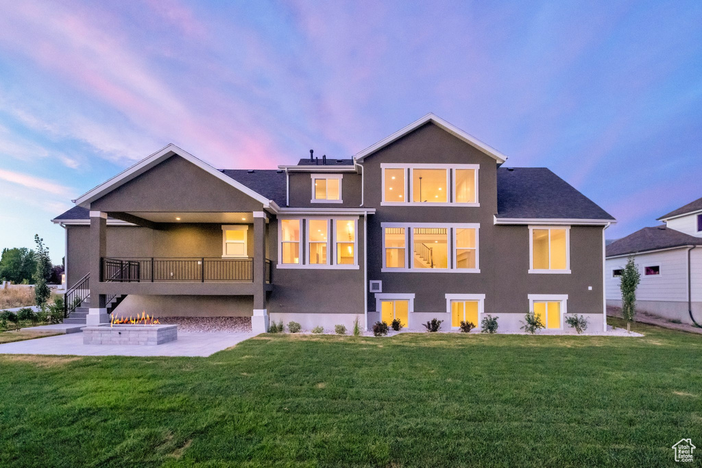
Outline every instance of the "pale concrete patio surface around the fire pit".
POLYGON ((0 354, 73 356, 201 356, 227 349, 256 333, 179 332, 178 340, 156 346, 84 345, 83 333, 49 336, 0 345, 0 354))

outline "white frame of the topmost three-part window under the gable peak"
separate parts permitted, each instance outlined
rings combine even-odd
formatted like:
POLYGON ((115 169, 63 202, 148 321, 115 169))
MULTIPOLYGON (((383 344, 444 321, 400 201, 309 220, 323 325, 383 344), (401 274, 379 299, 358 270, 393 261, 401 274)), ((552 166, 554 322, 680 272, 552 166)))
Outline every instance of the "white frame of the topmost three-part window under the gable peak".
POLYGON ((480 206, 478 173, 479 164, 395 164, 380 163, 380 206, 480 206), (405 201, 385 201, 385 169, 404 169, 404 199, 405 201), (414 169, 443 169, 446 170, 446 200, 441 202, 411 201, 413 198, 413 170, 414 169), (456 169, 472 169, 475 171, 475 203, 456 203, 456 169), (409 191, 408 191, 409 187, 409 191), (451 187, 451 189, 449 189, 451 187))

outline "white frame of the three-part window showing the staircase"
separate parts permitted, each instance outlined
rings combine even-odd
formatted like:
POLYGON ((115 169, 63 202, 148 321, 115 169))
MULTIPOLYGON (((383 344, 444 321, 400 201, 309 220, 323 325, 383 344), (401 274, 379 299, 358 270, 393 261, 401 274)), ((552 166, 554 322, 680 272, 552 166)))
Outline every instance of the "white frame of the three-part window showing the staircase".
POLYGON ((477 222, 381 222, 383 266, 380 272, 412 272, 412 273, 480 273, 480 224, 477 222), (385 228, 404 227, 404 268, 392 268, 385 265, 385 228), (414 228, 439 227, 447 229, 448 261, 446 268, 413 268, 412 254, 414 252, 414 228), (456 229, 475 229, 475 268, 456 268, 456 229))

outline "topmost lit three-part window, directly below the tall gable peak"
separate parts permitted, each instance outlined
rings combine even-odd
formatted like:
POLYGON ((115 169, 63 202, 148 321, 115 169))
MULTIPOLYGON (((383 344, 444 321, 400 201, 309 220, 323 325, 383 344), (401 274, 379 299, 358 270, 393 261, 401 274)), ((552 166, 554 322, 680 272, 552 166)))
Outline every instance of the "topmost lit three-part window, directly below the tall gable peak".
POLYGON ((478 164, 381 164, 384 205, 479 206, 478 164))

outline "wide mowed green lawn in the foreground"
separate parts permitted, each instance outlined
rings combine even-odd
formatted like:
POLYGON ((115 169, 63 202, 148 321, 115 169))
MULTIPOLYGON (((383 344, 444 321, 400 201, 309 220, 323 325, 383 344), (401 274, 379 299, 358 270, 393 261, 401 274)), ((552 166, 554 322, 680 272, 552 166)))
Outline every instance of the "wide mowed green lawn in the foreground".
POLYGON ((633 330, 0 356, 0 466, 672 465, 673 443, 702 446, 702 337, 633 330))

